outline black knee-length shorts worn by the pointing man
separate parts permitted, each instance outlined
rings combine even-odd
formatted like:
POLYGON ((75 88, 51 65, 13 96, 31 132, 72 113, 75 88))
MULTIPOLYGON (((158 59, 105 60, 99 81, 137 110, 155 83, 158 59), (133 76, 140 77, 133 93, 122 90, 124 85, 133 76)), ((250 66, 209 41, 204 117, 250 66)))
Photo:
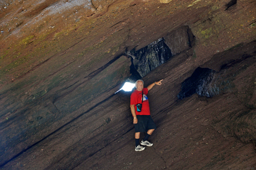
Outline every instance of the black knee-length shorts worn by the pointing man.
POLYGON ((137 115, 138 123, 134 124, 135 133, 147 132, 149 129, 156 129, 155 123, 151 115, 137 115))

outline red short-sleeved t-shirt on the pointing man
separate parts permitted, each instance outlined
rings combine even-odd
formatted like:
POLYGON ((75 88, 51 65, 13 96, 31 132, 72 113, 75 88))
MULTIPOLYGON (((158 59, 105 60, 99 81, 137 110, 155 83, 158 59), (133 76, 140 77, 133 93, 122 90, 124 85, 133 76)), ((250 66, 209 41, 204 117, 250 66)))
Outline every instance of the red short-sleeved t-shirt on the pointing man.
POLYGON ((148 89, 143 88, 142 91, 134 90, 131 94, 131 105, 135 105, 136 115, 150 115, 149 103, 148 103, 148 89), (142 103, 142 91, 143 91, 143 103, 142 103), (141 112, 137 112, 136 104, 142 103, 141 112))

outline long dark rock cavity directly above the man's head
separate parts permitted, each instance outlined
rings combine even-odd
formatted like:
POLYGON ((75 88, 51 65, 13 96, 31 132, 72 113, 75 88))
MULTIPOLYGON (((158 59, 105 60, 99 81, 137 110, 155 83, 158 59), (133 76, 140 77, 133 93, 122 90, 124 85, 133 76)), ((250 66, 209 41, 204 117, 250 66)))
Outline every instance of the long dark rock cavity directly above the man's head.
POLYGON ((147 73, 164 64, 172 56, 193 47, 195 39, 190 27, 181 26, 144 48, 126 52, 133 59, 132 75, 146 76, 147 73))

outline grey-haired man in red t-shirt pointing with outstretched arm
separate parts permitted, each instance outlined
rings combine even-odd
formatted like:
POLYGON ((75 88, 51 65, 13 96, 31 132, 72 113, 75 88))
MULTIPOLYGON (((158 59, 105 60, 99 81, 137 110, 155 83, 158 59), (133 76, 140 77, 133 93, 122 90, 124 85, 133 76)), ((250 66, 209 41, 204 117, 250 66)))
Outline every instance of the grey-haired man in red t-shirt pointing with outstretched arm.
POLYGON ((143 146, 152 146, 153 144, 148 141, 148 138, 153 133, 154 129, 157 128, 155 123, 150 115, 149 103, 148 103, 148 91, 152 89, 156 84, 161 85, 163 80, 154 82, 150 84, 147 88, 144 88, 144 82, 142 80, 137 80, 135 82, 136 89, 131 94, 131 113, 133 116, 133 124, 135 126, 135 151, 143 151, 145 147, 143 146), (143 97, 142 97, 143 94, 143 97), (143 102, 142 102, 143 98, 143 102), (141 111, 137 111, 137 104, 142 104, 141 111), (144 139, 141 141, 140 145, 140 133, 147 132, 144 139))

